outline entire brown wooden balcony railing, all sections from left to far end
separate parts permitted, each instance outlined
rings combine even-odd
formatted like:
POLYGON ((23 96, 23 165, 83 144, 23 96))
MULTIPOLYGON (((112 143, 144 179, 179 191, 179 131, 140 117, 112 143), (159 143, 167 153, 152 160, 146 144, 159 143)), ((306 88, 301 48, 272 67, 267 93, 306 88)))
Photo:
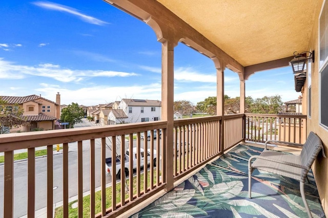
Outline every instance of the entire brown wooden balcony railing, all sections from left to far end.
POLYGON ((140 203, 166 193, 168 184, 177 185, 243 140, 299 143, 305 126, 302 115, 236 114, 175 120, 173 129, 167 129, 166 121, 156 121, 1 135, 5 163, 0 166, 0 217, 34 217, 40 211, 48 217, 115 217, 138 210, 140 203), (150 141, 142 139, 147 131, 150 141), (173 131, 172 142, 166 140, 168 131, 173 131), (61 155, 54 156, 57 144, 61 155), (47 157, 36 159, 36 149, 42 146, 47 157), (140 155, 129 155, 106 176, 106 158, 124 157, 133 147, 140 155), (141 148, 149 154, 141 155, 141 148), (27 162, 14 162, 18 149, 27 149, 27 162), (169 156, 173 162, 167 162, 169 156))

